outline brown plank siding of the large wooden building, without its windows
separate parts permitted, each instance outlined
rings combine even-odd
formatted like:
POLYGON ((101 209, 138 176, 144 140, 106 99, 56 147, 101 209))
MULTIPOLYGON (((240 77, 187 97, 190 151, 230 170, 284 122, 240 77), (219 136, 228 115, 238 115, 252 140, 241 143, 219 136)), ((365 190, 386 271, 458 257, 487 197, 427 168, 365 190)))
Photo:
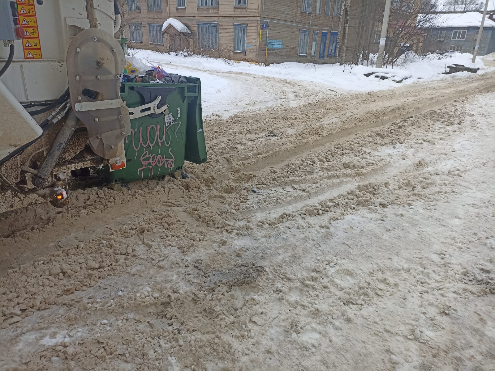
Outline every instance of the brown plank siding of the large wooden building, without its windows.
MULTIPOLYGON (((339 32, 339 47, 341 45, 342 30, 339 29, 340 17, 334 17, 335 0, 332 0, 330 16, 325 16, 325 1, 322 0, 321 14, 315 14, 316 0, 313 0, 312 13, 302 12, 302 0, 247 0, 247 6, 234 6, 234 0, 219 0, 218 8, 198 8, 198 0, 186 0, 186 8, 177 8, 175 0, 163 0, 162 12, 147 11, 146 0, 141 0, 141 12, 128 12, 128 23, 141 22, 143 25, 143 43, 131 43, 137 47, 168 51, 166 45, 149 44, 148 23, 160 24, 172 17, 184 23, 192 32, 192 47, 198 47, 197 23, 218 22, 218 46, 215 56, 233 60, 246 60, 250 62, 265 62, 266 37, 268 31, 269 40, 277 40, 282 43, 281 48, 269 48, 267 53, 268 63, 281 62, 308 62, 308 63, 335 63, 338 57, 328 57, 330 33, 339 32), (262 23, 269 21, 268 30, 262 30, 262 23), (234 23, 247 24, 246 53, 233 52, 234 47, 234 23), (298 56, 299 31, 309 30, 308 56, 298 56), (262 31, 262 41, 259 41, 259 32, 262 31), (321 33, 328 32, 325 48, 325 57, 310 56, 312 31, 318 31, 317 50, 319 51, 321 33)), ((351 12, 358 7, 359 0, 351 1, 351 12)), ((345 4, 345 0, 343 1, 345 4)), ((343 6, 344 6, 343 4, 343 6)), ((348 45, 353 45, 356 40, 355 26, 349 18, 348 45)), ((126 29, 129 37, 129 29, 126 29)), ((346 61, 352 58, 352 48, 347 48, 346 61)), ((214 52, 210 53, 212 56, 214 52)), ((317 52, 318 54, 318 52, 317 52)), ((343 62, 343 61, 340 61, 343 62)))

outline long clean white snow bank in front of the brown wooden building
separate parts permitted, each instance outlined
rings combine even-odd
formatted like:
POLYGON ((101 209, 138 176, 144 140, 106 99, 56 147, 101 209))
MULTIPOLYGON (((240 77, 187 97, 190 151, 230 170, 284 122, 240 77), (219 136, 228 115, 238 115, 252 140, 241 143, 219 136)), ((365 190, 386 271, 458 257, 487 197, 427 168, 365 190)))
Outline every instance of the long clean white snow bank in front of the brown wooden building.
MULTIPOLYGON (((228 63, 226 63, 222 59, 191 55, 190 53, 176 55, 175 53, 158 53, 151 50, 130 49, 130 51, 133 55, 144 59, 149 64, 160 65, 167 72, 178 73, 183 76, 196 76, 202 79, 203 87, 209 82, 216 82, 219 83, 219 86, 224 86, 230 81, 230 74, 220 77, 218 73, 234 72, 255 75, 257 76, 256 78, 259 77, 260 83, 263 82, 263 77, 288 81, 315 82, 327 85, 338 92, 393 88, 397 86, 396 81, 402 80, 401 77, 407 77, 407 80, 402 83, 452 79, 460 75, 442 75, 447 72, 446 67, 452 63, 469 66, 472 58, 472 54, 469 53, 455 53, 449 56, 440 54, 430 54, 422 57, 414 54, 403 56, 394 68, 387 66, 384 71, 379 71, 376 68, 372 69, 375 73, 396 75, 393 79, 380 80, 365 77, 364 74, 368 70, 365 70, 366 67, 364 66, 286 62, 265 67, 247 62, 232 63, 227 61, 228 63)), ((478 72, 480 75, 490 70, 489 68, 484 68, 481 58, 476 59, 475 66, 480 67, 481 70, 478 72)), ((213 85, 211 89, 212 91, 217 90, 213 85)))

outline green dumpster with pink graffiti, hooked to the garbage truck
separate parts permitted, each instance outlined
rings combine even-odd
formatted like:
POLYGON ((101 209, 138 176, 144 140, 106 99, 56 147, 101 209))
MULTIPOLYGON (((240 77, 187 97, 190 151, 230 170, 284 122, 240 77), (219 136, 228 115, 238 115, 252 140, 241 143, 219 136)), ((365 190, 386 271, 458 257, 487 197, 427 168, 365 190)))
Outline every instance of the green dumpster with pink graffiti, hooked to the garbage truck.
POLYGON ((131 119, 131 132, 124 140, 126 167, 102 169, 110 183, 129 182, 163 176, 182 170, 185 161, 206 162, 201 82, 186 77, 188 83, 123 82, 120 96, 129 108, 153 102, 168 104, 168 114, 151 113, 131 119))

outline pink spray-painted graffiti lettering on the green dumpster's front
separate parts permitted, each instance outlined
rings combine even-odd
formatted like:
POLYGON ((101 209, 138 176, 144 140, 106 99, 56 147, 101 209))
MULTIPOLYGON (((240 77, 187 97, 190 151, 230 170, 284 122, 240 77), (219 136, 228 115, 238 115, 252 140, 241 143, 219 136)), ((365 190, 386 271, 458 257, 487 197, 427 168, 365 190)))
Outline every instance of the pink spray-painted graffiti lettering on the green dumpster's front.
POLYGON ((141 167, 138 169, 138 174, 141 172, 141 179, 145 177, 145 171, 148 170, 148 177, 152 177, 155 170, 160 172, 162 166, 165 166, 169 173, 174 168, 175 157, 172 154, 170 144, 172 135, 177 138, 180 122, 167 122, 165 124, 153 124, 145 127, 131 129, 131 133, 126 137, 126 143, 132 141, 132 148, 127 156, 132 156, 134 149, 134 160, 137 160, 138 153, 142 151, 139 161, 141 167), (156 154, 156 146, 159 147, 156 154), (155 153, 153 153, 153 148, 155 153))

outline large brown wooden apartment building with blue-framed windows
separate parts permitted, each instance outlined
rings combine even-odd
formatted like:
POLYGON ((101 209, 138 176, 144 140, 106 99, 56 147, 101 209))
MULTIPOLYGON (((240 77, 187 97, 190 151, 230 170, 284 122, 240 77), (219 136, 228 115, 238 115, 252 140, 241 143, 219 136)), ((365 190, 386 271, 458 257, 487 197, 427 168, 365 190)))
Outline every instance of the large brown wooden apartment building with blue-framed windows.
MULTIPOLYGON (((183 37, 195 53, 257 63, 344 62, 349 29, 345 0, 127 0, 126 37, 132 47, 176 51, 183 37), (191 31, 162 32, 168 18, 191 31), (347 26, 347 27, 346 27, 347 26), (339 59, 339 53, 343 55, 339 59)), ((355 3, 353 1, 353 3, 355 3)), ((348 14, 347 14, 348 17, 348 14)), ((353 35, 355 36, 355 35, 353 35)), ((349 40, 352 38, 349 35, 349 40)), ((184 41, 183 40, 183 41, 184 41)), ((184 42, 180 43, 180 47, 184 42)))

